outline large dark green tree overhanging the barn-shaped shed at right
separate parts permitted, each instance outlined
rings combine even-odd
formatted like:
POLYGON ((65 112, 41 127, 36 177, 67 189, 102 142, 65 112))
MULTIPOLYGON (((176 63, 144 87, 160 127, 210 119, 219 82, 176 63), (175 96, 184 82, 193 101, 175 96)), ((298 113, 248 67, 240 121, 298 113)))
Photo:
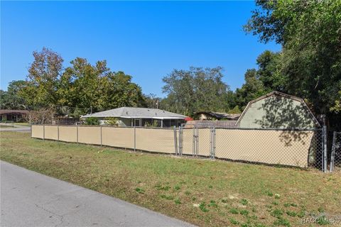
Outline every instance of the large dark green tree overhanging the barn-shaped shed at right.
POLYGON ((340 103, 341 1, 258 0, 256 5, 244 28, 264 43, 276 40, 283 46, 284 89, 307 99, 315 113, 331 116, 340 103))

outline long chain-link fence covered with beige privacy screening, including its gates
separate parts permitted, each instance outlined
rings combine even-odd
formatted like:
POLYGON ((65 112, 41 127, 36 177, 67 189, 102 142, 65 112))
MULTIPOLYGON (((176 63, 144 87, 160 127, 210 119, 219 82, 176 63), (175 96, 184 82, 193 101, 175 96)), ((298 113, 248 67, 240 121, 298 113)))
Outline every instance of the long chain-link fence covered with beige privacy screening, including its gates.
MULTIPOLYGON (((73 143, 107 145, 153 153, 219 158, 237 162, 315 167, 327 170, 325 129, 33 125, 31 136, 73 143)), ((335 165, 341 165, 340 138, 335 135, 335 165)))

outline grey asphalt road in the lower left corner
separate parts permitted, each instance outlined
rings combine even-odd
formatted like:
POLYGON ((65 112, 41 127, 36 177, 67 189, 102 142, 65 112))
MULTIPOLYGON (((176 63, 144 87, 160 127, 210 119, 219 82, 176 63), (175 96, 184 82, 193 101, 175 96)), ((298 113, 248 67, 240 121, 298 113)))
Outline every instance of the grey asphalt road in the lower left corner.
POLYGON ((0 226, 190 226, 8 162, 0 165, 0 226))

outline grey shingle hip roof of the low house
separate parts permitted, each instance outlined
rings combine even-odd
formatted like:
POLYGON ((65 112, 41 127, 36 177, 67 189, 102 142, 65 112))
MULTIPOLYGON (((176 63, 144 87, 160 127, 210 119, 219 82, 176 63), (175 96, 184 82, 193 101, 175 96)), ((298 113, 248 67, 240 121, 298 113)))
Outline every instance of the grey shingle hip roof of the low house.
POLYGON ((121 118, 154 118, 154 119, 183 119, 187 116, 164 111, 162 109, 138 108, 138 107, 120 107, 117 109, 109 109, 107 111, 87 114, 87 117, 121 117, 121 118))

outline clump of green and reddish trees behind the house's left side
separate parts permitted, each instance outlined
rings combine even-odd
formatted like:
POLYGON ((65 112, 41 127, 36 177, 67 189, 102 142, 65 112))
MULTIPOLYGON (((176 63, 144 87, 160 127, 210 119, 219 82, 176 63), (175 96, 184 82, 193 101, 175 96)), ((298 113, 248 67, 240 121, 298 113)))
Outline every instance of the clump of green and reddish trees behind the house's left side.
MULTIPOLYGON (((30 106, 77 106, 78 110, 93 111, 146 106, 141 87, 131 82, 130 75, 112 72, 105 60, 91 65, 85 58, 76 57, 63 70, 63 58, 53 50, 43 48, 33 52, 33 57, 27 82, 18 91, 30 106)), ((85 113, 75 113, 80 114, 85 113)))

